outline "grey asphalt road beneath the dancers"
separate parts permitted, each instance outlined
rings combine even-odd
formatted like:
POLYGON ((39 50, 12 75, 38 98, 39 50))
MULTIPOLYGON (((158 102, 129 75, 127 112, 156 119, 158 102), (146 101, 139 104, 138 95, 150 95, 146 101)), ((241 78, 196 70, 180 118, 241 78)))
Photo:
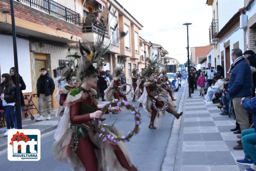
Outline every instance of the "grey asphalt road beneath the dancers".
MULTIPOLYGON (((175 103, 178 105, 184 88, 184 82, 178 92, 175 92, 175 103)), ((139 107, 138 102, 129 101, 139 107)), ((174 116, 166 113, 165 116, 155 120, 154 125, 157 129, 149 129, 150 118, 147 116, 143 107, 139 108, 142 112, 142 124, 139 134, 133 136, 127 143, 127 147, 133 158, 133 165, 140 171, 160 171, 166 148, 170 139, 174 116)), ((123 110, 120 114, 105 115, 106 123, 115 122, 115 127, 128 132, 134 127, 132 114, 128 110, 123 110)), ((52 156, 52 143, 54 142, 53 133, 41 138, 41 159, 38 162, 11 162, 7 159, 7 153, 0 156, 1 171, 72 171, 69 163, 57 162, 52 156)))

